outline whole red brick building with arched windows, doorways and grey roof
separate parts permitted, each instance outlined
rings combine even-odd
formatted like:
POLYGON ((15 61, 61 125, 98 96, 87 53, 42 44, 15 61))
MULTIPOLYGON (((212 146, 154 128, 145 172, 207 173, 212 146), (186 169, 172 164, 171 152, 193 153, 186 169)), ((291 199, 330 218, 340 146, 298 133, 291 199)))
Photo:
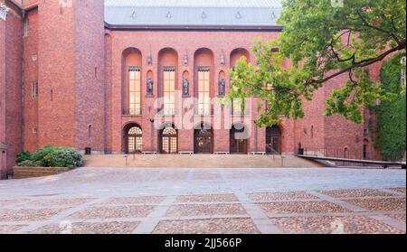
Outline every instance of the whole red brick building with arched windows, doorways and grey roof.
MULTIPOLYGON (((253 40, 279 36, 279 1, 149 2, 0 0, 2 178, 15 154, 44 145, 100 154, 373 153, 367 112, 365 125, 323 117, 346 76, 306 102, 304 119, 281 126, 256 126, 258 98, 246 111, 220 106, 228 70, 241 56, 255 62, 253 40)), ((377 78, 379 66, 371 72, 377 78)))

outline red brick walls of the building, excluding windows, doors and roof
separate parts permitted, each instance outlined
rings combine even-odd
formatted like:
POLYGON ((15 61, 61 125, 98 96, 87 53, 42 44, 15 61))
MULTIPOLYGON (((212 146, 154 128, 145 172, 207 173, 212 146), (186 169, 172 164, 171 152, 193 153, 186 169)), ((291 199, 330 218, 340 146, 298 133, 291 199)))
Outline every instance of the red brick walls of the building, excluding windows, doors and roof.
MULTIPOLYGON (((64 5, 59 1, 29 1, 20 6, 22 9, 11 1, 3 2, 13 7, 7 21, 0 20, 0 89, 5 100, 0 104, 0 136, 1 143, 8 146, 7 162, 5 154, 0 159, 3 177, 5 167, 11 173, 17 152, 34 151, 44 145, 124 153, 126 129, 133 125, 143 130, 144 152, 159 152, 159 130, 155 126, 164 123, 178 129, 178 151, 194 152, 194 128, 185 129, 182 122, 185 116, 194 114, 182 104, 187 98, 180 96, 175 116, 161 121, 155 118, 154 103, 164 89, 163 67, 175 67, 175 89, 179 93, 183 79, 189 80, 191 97, 197 96, 197 68, 209 67, 210 95, 216 98, 220 78, 225 79, 228 93, 228 70, 241 56, 255 62, 250 52, 253 40, 279 35, 251 30, 109 29, 104 23, 103 0, 63 1, 64 5), (24 23, 28 23, 25 28, 24 23), (128 116, 128 62, 141 68, 139 116, 128 116), (147 96, 147 78, 154 81, 152 97, 147 96), (34 82, 39 89, 36 98, 32 94, 34 82)), ((365 135, 366 126, 342 117, 323 117, 325 99, 345 80, 345 76, 339 76, 317 90, 314 99, 305 102, 305 118, 284 120, 279 126, 281 153, 292 154, 298 147, 315 151, 329 147, 362 154, 365 141, 373 146, 370 135, 365 135)), ((266 128, 257 128, 254 123, 259 116, 258 98, 252 98, 250 105, 250 116, 240 117, 250 128, 247 152, 265 152, 266 128)), ((213 109, 217 106, 214 104, 213 109)), ((213 152, 230 151, 234 121, 227 109, 220 110, 218 121, 214 112, 210 117, 194 116, 191 123, 213 126, 213 152)), ((367 112, 365 118, 370 118, 367 112)))

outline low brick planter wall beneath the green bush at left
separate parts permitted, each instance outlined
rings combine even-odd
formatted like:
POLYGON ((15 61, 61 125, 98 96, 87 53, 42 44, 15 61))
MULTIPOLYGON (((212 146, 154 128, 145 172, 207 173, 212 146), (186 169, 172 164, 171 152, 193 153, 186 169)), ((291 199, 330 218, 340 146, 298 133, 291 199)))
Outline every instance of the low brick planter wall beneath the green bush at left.
POLYGON ((56 175, 59 173, 65 173, 70 171, 70 168, 66 167, 26 167, 26 166, 14 166, 13 179, 26 179, 33 177, 44 177, 56 175))

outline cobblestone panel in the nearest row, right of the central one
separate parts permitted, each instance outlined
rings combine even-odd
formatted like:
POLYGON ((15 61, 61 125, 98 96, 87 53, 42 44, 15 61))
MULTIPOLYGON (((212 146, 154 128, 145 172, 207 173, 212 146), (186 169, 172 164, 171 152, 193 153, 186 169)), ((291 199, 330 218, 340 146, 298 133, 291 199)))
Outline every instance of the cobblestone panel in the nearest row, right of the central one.
POLYGON ((399 229, 365 216, 290 217, 272 221, 290 234, 402 234, 399 229))

